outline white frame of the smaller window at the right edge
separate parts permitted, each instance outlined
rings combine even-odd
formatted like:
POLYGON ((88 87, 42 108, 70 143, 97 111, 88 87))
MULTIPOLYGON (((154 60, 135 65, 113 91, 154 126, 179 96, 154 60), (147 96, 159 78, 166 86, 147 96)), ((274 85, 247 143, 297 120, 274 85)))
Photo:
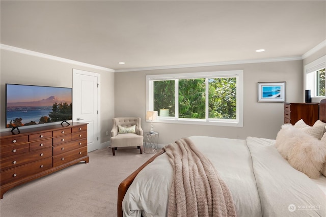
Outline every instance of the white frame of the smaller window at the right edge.
MULTIPOLYGON (((325 98, 325 96, 316 96, 316 90, 317 90, 317 75, 316 72, 320 69, 326 68, 326 55, 312 61, 311 63, 305 65, 304 67, 304 91, 306 89, 310 89, 311 92, 311 98, 312 101, 315 101, 313 99, 316 99, 316 101, 318 101, 318 99, 323 99, 325 98), (313 74, 311 74, 313 73, 313 74), (309 83, 308 82, 308 77, 311 77, 310 80, 312 80, 313 82, 309 83)), ((303 99, 305 101, 305 92, 303 92, 303 99)))

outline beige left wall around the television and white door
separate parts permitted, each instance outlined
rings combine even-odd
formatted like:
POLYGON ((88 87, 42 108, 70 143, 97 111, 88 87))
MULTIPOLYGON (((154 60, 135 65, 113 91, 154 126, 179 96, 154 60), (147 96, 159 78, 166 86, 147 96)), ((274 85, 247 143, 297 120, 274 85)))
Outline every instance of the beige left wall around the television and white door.
MULTIPOLYGON (((100 137, 101 143, 110 141, 105 136, 111 131, 114 117, 114 73, 103 70, 82 67, 57 60, 26 55, 1 49, 0 71, 0 126, 5 129, 5 90, 6 83, 72 87, 72 69, 80 69, 99 73, 100 85, 100 137)), ((8 130, 8 129, 7 129, 8 130)), ((109 134, 110 135, 110 134, 109 134)))

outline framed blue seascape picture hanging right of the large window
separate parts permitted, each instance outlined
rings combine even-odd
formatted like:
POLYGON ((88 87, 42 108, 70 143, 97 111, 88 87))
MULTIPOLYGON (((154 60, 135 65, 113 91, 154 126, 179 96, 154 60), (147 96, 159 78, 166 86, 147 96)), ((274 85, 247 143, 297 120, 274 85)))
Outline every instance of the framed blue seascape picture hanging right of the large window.
POLYGON ((258 82, 258 102, 285 102, 286 82, 258 82))

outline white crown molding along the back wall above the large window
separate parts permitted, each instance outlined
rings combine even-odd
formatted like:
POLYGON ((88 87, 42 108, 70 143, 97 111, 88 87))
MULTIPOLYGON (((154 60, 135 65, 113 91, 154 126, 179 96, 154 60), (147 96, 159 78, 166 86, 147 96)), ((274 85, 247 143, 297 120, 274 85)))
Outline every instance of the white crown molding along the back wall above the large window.
POLYGON ((115 70, 115 72, 135 72, 135 71, 148 71, 148 70, 161 70, 161 69, 178 69, 178 68, 224 66, 224 65, 237 65, 237 64, 254 64, 254 63, 268 63, 268 62, 279 62, 279 61, 292 61, 292 60, 302 60, 302 57, 301 56, 291 56, 291 57, 278 57, 278 58, 265 58, 265 59, 222 61, 222 62, 216 62, 216 63, 185 64, 185 65, 159 66, 159 67, 144 67, 144 68, 134 68, 134 69, 117 69, 117 70, 115 70))

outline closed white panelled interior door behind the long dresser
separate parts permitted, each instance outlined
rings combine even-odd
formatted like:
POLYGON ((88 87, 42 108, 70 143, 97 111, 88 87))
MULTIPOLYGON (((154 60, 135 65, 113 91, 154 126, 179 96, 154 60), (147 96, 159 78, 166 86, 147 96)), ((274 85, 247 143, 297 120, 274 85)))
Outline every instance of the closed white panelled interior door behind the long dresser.
POLYGON ((99 77, 97 73, 73 69, 72 119, 88 123, 87 151, 99 145, 99 77))

